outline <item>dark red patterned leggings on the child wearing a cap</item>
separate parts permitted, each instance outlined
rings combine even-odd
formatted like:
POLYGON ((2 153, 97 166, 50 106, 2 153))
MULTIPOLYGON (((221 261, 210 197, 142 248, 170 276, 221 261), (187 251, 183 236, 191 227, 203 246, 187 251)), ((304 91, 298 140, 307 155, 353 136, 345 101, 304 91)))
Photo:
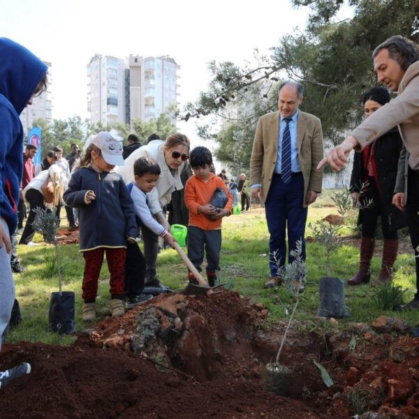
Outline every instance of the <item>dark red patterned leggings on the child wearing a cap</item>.
POLYGON ((124 264, 126 249, 123 247, 98 247, 98 249, 83 252, 84 276, 82 298, 84 302, 94 302, 96 299, 98 293, 98 279, 99 274, 101 273, 105 252, 110 272, 109 284, 111 298, 124 298, 124 264))

